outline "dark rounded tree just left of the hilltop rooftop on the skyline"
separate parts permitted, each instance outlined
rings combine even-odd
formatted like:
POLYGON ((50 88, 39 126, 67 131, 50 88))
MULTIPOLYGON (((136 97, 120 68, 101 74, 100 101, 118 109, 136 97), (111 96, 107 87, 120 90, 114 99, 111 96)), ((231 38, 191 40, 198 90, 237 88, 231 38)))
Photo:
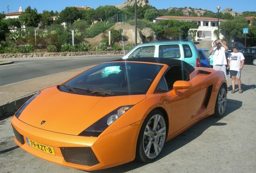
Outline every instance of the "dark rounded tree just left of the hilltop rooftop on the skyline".
POLYGON ((74 23, 78 18, 81 18, 81 13, 75 7, 66 7, 59 14, 59 20, 67 24, 74 23))

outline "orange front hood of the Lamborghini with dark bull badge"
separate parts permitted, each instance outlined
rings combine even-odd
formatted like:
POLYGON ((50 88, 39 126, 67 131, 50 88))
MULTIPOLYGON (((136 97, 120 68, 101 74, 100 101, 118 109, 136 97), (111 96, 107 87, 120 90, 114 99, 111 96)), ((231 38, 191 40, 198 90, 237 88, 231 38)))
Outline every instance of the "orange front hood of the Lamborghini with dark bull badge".
POLYGON ((39 129, 78 135, 114 109, 136 105, 145 98, 145 95, 94 97, 64 93, 51 87, 27 105, 19 120, 39 129))

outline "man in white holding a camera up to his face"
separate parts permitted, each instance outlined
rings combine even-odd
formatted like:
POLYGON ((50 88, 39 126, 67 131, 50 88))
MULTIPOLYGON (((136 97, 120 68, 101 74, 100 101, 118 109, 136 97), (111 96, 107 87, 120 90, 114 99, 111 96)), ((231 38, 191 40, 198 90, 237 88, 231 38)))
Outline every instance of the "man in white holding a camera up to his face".
POLYGON ((209 50, 209 54, 213 54, 213 69, 223 71, 226 78, 227 59, 225 52, 227 52, 228 49, 229 48, 226 46, 226 44, 224 44, 221 40, 215 40, 215 42, 213 42, 213 47, 209 50))

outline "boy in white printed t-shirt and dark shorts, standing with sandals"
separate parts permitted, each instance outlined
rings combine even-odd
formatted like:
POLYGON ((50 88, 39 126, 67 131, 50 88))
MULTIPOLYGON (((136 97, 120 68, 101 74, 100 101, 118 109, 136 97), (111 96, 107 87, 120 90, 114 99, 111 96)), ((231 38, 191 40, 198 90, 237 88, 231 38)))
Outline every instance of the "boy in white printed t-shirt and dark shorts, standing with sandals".
POLYGON ((238 46, 235 45, 233 52, 229 54, 227 69, 229 69, 229 75, 231 77, 232 91, 235 93, 235 80, 238 84, 238 93, 243 93, 241 85, 241 70, 244 67, 244 55, 241 52, 238 52, 238 46))

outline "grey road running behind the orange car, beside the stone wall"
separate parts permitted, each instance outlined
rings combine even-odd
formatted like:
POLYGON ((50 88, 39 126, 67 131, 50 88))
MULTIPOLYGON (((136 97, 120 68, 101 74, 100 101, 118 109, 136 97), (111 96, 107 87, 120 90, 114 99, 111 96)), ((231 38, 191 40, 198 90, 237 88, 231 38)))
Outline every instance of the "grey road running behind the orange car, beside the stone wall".
POLYGON ((82 68, 84 66, 91 66, 109 60, 116 60, 122 56, 123 55, 8 59, 12 60, 14 63, 0 66, 0 86, 82 68))

